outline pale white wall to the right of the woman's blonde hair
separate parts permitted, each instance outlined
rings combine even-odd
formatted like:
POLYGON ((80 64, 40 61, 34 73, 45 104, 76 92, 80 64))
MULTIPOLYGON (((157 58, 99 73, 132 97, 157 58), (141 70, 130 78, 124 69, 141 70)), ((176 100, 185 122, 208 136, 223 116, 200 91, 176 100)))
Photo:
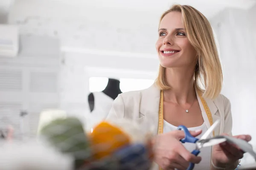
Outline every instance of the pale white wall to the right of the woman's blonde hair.
MULTIPOLYGON (((222 93, 231 102, 233 134, 250 134, 256 150, 256 6, 250 11, 225 9, 213 20, 224 72, 222 93)), ((246 154, 241 167, 256 167, 246 154)))

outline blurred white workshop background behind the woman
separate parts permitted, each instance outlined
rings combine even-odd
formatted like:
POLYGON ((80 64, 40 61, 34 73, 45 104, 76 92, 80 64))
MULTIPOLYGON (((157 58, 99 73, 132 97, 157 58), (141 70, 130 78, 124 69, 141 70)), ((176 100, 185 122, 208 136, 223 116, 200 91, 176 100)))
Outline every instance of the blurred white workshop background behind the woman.
POLYGON ((252 135, 256 150, 256 0, 0 0, 0 129, 33 137, 52 115, 104 117, 117 94, 149 87, 160 15, 174 3, 212 24, 233 134, 252 135))

